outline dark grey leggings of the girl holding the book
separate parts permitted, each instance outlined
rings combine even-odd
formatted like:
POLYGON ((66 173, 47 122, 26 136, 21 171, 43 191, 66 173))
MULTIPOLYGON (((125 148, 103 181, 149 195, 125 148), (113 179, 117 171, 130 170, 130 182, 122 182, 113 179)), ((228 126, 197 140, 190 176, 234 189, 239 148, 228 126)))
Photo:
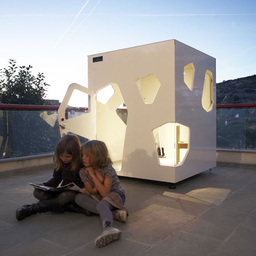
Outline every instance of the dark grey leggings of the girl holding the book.
POLYGON ((74 202, 77 192, 72 190, 64 190, 63 192, 49 192, 35 188, 33 194, 38 200, 58 198, 58 203, 60 206, 63 206, 68 202, 74 202))

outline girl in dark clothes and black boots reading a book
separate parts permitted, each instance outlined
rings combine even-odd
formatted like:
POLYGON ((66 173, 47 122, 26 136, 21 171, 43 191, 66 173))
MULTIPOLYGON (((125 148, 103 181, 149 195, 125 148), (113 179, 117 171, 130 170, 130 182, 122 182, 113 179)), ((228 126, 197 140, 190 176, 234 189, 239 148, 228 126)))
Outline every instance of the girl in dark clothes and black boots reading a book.
MULTIPOLYGON (((46 182, 38 182, 37 185, 44 185, 56 188, 74 182, 82 188, 82 194, 88 194, 87 189, 79 177, 79 169, 83 167, 81 161, 81 144, 79 138, 74 134, 64 135, 57 143, 53 155, 54 171, 53 177, 46 182)), ((87 210, 75 204, 75 196, 78 192, 73 190, 44 191, 34 189, 34 197, 38 203, 26 204, 16 210, 17 220, 22 220, 30 215, 49 211, 72 211, 91 215, 87 210)))

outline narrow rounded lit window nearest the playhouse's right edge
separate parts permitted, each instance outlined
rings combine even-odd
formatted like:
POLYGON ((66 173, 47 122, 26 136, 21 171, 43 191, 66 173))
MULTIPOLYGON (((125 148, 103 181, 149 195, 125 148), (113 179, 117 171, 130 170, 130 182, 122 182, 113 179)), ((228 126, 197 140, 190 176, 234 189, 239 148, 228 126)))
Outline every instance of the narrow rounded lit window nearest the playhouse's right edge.
POLYGON ((202 106, 206 112, 211 111, 213 107, 213 81, 212 73, 207 70, 205 72, 202 94, 202 106))

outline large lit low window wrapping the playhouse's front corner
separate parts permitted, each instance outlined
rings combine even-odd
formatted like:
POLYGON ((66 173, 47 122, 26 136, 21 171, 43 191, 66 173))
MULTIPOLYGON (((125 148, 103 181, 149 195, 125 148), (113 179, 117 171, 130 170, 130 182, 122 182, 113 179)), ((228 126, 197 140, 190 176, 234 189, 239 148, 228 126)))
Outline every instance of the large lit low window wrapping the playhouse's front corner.
POLYGON ((153 130, 156 154, 162 166, 181 165, 189 150, 189 127, 166 123, 153 130))

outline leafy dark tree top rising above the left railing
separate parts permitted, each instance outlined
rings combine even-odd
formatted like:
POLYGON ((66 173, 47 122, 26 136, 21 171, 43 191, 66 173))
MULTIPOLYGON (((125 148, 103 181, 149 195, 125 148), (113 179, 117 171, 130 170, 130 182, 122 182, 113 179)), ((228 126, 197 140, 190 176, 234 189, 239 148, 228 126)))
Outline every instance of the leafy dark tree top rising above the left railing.
POLYGON ((20 66, 15 60, 9 61, 8 68, 0 69, 0 103, 45 105, 46 87, 43 73, 37 77, 31 74, 32 66, 20 66))

